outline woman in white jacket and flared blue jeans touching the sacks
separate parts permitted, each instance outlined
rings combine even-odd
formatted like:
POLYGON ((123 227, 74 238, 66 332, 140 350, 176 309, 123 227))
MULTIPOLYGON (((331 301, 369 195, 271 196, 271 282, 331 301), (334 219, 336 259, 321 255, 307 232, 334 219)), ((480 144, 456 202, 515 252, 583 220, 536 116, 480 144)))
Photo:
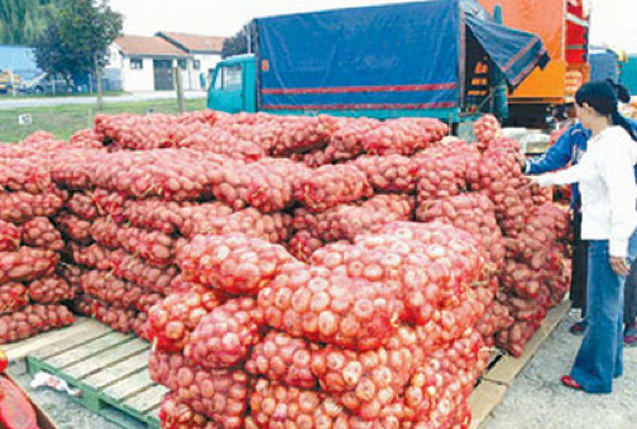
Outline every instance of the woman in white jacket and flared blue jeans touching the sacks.
POLYGON ((571 374, 561 381, 588 393, 610 393, 613 377, 622 375, 624 284, 637 257, 637 187, 633 176, 637 136, 628 124, 622 124, 617 96, 607 82, 583 85, 575 100, 581 124, 592 131, 586 154, 571 168, 531 180, 541 186, 580 185, 582 240, 589 241, 589 326, 571 374), (620 126, 612 126, 613 120, 620 126))

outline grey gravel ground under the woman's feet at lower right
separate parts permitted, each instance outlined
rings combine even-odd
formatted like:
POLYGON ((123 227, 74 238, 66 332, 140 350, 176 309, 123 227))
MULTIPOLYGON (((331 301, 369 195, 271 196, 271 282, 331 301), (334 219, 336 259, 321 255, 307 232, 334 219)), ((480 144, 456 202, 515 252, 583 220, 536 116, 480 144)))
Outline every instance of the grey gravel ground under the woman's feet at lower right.
POLYGON ((575 312, 541 346, 506 393, 484 429, 634 429, 637 427, 637 349, 624 349, 624 376, 611 395, 562 387, 581 337, 568 333, 575 312))

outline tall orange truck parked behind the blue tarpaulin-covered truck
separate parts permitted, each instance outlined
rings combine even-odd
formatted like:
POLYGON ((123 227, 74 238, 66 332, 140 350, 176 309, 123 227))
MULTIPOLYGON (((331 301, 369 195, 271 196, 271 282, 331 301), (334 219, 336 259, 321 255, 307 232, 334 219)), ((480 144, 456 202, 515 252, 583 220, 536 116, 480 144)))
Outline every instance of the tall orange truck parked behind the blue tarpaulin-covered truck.
POLYGON ((538 34, 551 61, 536 69, 508 94, 512 125, 542 121, 573 103, 573 95, 588 82, 590 20, 583 0, 478 0, 489 12, 500 6, 507 27, 538 34))

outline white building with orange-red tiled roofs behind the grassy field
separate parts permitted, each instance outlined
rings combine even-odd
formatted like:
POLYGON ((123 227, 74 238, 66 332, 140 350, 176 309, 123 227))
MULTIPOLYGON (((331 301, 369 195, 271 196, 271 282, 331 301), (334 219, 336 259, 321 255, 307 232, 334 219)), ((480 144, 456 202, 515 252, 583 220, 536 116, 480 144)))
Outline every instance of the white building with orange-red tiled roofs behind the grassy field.
POLYGON ((110 47, 105 73, 118 74, 127 92, 161 91, 175 89, 173 68, 178 67, 184 90, 207 87, 208 70, 221 58, 223 38, 157 34, 117 38, 110 47), (169 35, 174 36, 171 41, 169 35))

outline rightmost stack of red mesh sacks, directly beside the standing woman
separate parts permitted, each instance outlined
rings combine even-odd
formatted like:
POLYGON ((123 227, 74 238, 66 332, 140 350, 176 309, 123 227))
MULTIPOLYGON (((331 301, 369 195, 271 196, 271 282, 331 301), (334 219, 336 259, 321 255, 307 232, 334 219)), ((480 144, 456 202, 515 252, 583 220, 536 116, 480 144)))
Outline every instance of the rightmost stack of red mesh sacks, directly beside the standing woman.
POLYGON ((568 291, 569 217, 551 202, 550 189, 527 185, 516 159, 519 143, 502 137, 494 117, 477 122, 475 134, 484 151, 480 185, 494 202, 506 249, 497 298, 514 319, 497 332, 496 344, 518 357, 568 291))

